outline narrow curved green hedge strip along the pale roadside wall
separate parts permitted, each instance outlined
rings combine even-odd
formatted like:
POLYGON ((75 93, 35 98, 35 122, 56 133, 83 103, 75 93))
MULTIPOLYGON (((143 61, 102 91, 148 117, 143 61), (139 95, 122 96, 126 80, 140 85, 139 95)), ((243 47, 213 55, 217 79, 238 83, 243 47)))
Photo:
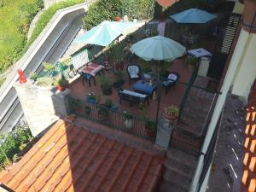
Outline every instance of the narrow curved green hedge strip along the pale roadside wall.
POLYGON ((60 3, 55 3, 54 5, 49 7, 49 9, 45 10, 44 13, 38 18, 36 26, 32 32, 32 36, 27 42, 26 47, 28 47, 36 38, 38 38, 38 35, 43 31, 44 27, 47 26, 49 20, 53 17, 53 15, 55 15, 57 10, 64 9, 79 3, 84 3, 84 0, 62 1, 60 3))

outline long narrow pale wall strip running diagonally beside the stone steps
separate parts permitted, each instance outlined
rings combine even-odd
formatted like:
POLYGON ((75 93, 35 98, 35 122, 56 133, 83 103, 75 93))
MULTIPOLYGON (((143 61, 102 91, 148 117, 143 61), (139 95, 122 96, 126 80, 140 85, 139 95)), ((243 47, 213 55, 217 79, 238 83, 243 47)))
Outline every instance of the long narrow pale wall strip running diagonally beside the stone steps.
POLYGON ((203 165, 204 155, 207 153, 207 148, 209 147, 209 144, 211 142, 215 127, 218 124, 218 118, 222 112, 222 108, 224 107, 224 102, 225 102, 226 96, 228 94, 228 91, 230 90, 232 80, 234 79, 234 76, 236 75, 236 69, 238 68, 239 64, 241 63, 243 56, 247 52, 247 44, 251 38, 252 38, 252 35, 250 35, 248 32, 245 32, 244 30, 241 30, 239 39, 236 44, 235 52, 230 61, 230 67, 228 69, 228 72, 225 75, 224 84, 221 88, 222 95, 218 96, 218 101, 217 101, 215 109, 212 113, 212 120, 209 124, 207 135, 206 135, 204 143, 202 145, 201 155, 200 155, 199 161, 198 161, 199 163, 198 163, 198 166, 196 167, 195 177, 193 178, 189 192, 198 191, 198 183, 199 183, 199 179, 201 177, 202 167, 204 166, 203 165))

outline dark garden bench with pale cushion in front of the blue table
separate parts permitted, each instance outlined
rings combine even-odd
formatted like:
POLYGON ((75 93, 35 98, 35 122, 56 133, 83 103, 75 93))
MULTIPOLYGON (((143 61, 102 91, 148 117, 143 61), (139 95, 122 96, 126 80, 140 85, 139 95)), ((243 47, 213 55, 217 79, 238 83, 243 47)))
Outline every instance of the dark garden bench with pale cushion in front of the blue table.
POLYGON ((119 91, 119 102, 121 104, 122 100, 126 100, 130 102, 130 106, 132 106, 132 103, 145 103, 148 102, 148 95, 144 95, 141 93, 137 93, 131 90, 120 90, 119 91))

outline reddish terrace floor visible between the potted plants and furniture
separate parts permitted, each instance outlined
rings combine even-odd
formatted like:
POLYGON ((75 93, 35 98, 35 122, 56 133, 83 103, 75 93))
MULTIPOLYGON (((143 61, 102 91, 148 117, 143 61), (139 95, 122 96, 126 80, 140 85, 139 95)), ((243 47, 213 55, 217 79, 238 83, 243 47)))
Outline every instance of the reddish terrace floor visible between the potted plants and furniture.
MULTIPOLYGON (((126 67, 126 66, 125 66, 126 67)), ((129 85, 128 80, 128 74, 126 73, 125 69, 125 84, 123 86, 126 90, 133 90, 132 86, 136 83, 136 81, 131 81, 131 85, 129 85)), ((185 66, 183 59, 178 59, 176 61, 173 61, 172 66, 170 65, 170 68, 168 69, 170 72, 177 72, 180 74, 180 81, 181 82, 189 82, 191 72, 189 71, 188 67, 185 66)), ((113 74, 109 72, 105 72, 109 76, 109 78, 113 79, 113 74)), ((89 92, 94 92, 96 95, 102 95, 102 89, 99 86, 99 84, 96 83, 96 86, 94 86, 93 82, 91 84, 91 87, 88 83, 85 82, 84 86, 82 84, 82 80, 79 79, 77 82, 75 82, 71 86, 71 95, 75 96, 77 98, 80 98, 82 100, 85 99, 87 94, 89 92)), ((185 90, 185 86, 183 84, 176 84, 176 87, 174 89, 170 89, 168 91, 168 94, 166 95, 165 89, 162 88, 161 90, 161 100, 160 100, 160 115, 163 113, 164 108, 166 106, 169 106, 171 104, 177 104, 180 105, 183 98, 183 93, 185 90)), ((113 88, 113 93, 111 96, 102 96, 101 102, 105 102, 106 99, 111 99, 114 103, 117 103, 119 105, 119 110, 121 111, 130 111, 131 113, 135 115, 141 115, 141 111, 139 109, 139 104, 134 103, 132 107, 130 107, 130 102, 123 101, 122 104, 119 104, 119 96, 118 92, 113 88)), ((156 116, 156 110, 157 110, 157 102, 154 99, 149 99, 149 105, 146 103, 145 108, 147 111, 148 117, 155 119, 156 116)))

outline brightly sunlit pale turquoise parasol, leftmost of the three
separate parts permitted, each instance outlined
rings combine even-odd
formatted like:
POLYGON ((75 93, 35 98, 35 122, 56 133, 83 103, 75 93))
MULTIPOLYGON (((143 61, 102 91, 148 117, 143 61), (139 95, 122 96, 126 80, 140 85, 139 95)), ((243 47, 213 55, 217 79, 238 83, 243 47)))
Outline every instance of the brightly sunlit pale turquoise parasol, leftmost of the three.
POLYGON ((85 32, 79 38, 75 38, 76 43, 97 44, 107 46, 114 39, 118 38, 125 30, 134 26, 133 22, 117 22, 104 20, 100 25, 85 32))

